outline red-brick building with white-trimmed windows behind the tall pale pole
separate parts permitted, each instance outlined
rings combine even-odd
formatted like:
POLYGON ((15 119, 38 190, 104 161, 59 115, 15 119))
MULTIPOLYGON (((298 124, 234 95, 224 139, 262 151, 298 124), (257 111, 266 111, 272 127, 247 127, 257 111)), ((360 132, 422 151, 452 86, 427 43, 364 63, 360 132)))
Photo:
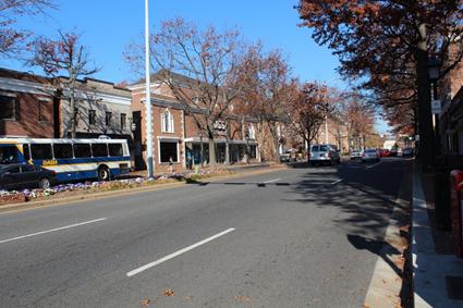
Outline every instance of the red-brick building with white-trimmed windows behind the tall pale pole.
MULTIPOLYGON (((209 161, 208 138, 202 132, 193 115, 172 95, 169 87, 157 75, 153 76, 150 87, 153 106, 153 145, 155 169, 166 171, 172 158, 174 170, 183 170, 192 160, 200 163, 203 144, 204 160, 209 161)), ((132 90, 132 111, 136 125, 134 132, 135 164, 137 169, 146 168, 146 118, 145 118, 145 83, 139 81, 130 86, 132 90)), ((200 113, 202 110, 192 112, 200 113)), ((252 119, 241 119, 228 115, 216 125, 216 160, 218 163, 236 163, 258 158, 256 122, 252 119), (246 139, 246 136, 248 137, 246 139), (228 159, 227 159, 228 157, 228 159)))

